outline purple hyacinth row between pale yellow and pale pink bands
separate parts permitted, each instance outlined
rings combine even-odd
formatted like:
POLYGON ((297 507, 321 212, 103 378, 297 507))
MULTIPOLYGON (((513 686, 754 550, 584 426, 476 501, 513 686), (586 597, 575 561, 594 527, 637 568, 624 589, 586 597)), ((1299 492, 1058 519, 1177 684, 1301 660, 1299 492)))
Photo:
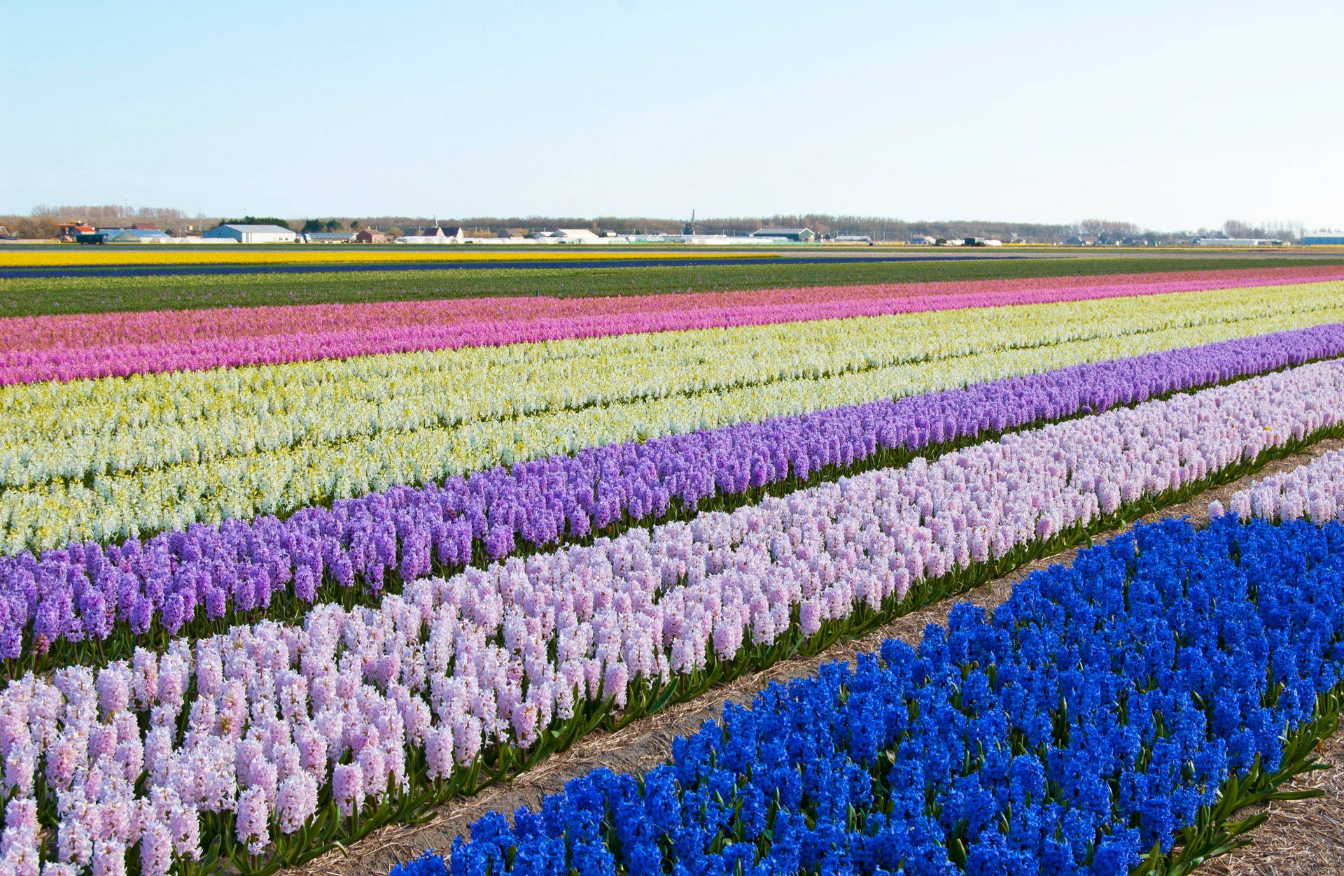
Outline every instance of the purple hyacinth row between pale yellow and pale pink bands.
MULTIPOLYGON (((77 543, 39 556, 0 558, 0 657, 103 640, 117 623, 140 636, 157 622, 176 634, 192 618, 265 609, 292 590, 316 598, 324 579, 370 591, 388 572, 413 580, 469 563, 473 547, 499 559, 523 545, 582 537, 622 519, 796 478, 878 454, 1142 402, 1164 392, 1344 355, 1344 324, 1175 349, 1007 378, 762 423, 589 449, 496 468, 442 485, 396 486, 286 520, 195 524, 121 545, 77 543)), ((878 458, 875 458, 878 457, 878 458)))

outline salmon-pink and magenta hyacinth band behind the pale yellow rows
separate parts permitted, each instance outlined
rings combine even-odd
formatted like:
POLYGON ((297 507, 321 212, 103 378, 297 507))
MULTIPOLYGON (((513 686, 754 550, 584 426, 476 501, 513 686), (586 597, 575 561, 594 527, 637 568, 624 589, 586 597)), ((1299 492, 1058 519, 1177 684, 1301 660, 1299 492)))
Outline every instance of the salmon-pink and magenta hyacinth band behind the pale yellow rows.
POLYGON ((888 283, 624 298, 468 298, 0 320, 0 384, 1341 279, 1339 267, 888 283))

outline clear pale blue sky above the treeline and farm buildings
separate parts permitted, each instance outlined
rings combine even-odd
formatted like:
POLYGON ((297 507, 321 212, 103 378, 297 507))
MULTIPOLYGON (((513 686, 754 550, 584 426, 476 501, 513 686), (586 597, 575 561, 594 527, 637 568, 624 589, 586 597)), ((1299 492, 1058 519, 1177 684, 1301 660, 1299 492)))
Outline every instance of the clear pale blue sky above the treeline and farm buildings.
POLYGON ((1344 224, 1337 1, 0 5, 0 212, 1344 224))

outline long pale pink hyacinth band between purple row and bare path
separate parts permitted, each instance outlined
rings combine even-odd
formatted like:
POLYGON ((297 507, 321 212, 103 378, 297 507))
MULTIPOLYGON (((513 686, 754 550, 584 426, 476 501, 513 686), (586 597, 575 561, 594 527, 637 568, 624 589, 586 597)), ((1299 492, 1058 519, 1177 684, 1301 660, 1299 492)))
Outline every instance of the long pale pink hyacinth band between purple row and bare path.
POLYGON ((7 829, 30 821, 22 801, 40 774, 56 789, 60 863, 118 872, 113 859, 137 855, 159 876, 200 853, 198 813, 220 810, 259 850, 310 818, 325 789, 349 814, 390 781, 405 786, 410 747, 430 778, 482 747, 527 748, 585 701, 624 707, 650 680, 775 641, 794 617, 810 636, 921 578, 1336 425, 1339 411, 1344 363, 1305 365, 419 579, 376 609, 319 605, 301 626, 261 622, 97 673, 28 674, 0 693, 0 790, 20 801, 7 829))

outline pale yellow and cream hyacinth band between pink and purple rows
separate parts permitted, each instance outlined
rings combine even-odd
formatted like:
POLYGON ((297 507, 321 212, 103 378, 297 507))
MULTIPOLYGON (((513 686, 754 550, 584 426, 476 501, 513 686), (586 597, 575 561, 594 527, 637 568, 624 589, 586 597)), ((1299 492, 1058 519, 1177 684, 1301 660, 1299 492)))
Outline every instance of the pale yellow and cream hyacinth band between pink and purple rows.
POLYGON ((0 392, 7 552, 500 462, 1341 321, 1344 283, 30 384, 0 392))

